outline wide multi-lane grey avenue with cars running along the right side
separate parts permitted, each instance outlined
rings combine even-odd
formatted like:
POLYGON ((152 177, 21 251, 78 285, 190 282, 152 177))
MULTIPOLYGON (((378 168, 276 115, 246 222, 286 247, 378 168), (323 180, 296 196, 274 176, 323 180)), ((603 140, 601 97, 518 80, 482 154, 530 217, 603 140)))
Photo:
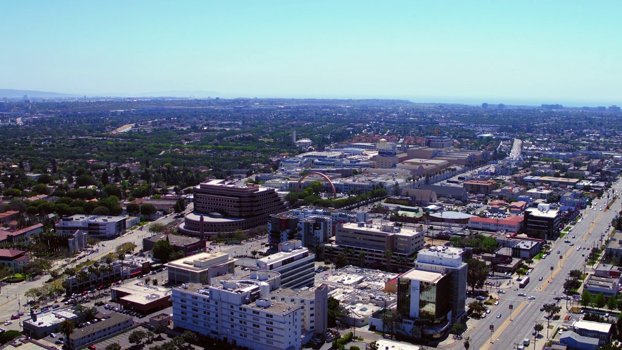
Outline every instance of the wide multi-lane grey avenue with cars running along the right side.
MULTIPOLYGON (((616 182, 612 189, 614 192, 620 191, 622 184, 616 182)), ((613 198, 613 196, 611 196, 613 198)), ((505 291, 504 294, 499 294, 501 297, 499 305, 490 306, 491 312, 483 319, 470 319, 467 321, 467 331, 463 334, 463 338, 470 337, 471 349, 513 349, 516 348, 516 344, 522 344, 523 339, 531 339, 531 344, 534 343, 534 336, 532 336, 533 326, 536 323, 542 323, 544 325, 544 331, 541 332, 541 336, 536 339, 536 348, 541 348, 543 342, 547 339, 547 319, 544 318, 544 312, 540 311, 540 308, 544 303, 550 303, 555 301, 555 296, 562 296, 562 290, 564 290, 564 280, 567 277, 570 270, 585 270, 585 272, 592 272, 593 267, 585 265, 585 258, 589 255, 590 250, 581 249, 580 247, 595 247, 604 242, 604 238, 601 237, 603 232, 610 231, 608 225, 611 223, 613 217, 620 212, 620 199, 616 201, 610 210, 605 210, 606 197, 604 199, 594 200, 598 201, 595 205, 595 209, 582 210, 583 218, 581 222, 574 225, 572 232, 569 232, 563 239, 557 239, 552 245, 552 255, 549 257, 536 260, 532 267, 533 272, 529 273, 530 281, 526 288, 519 289, 518 282, 514 285, 508 281, 514 277, 507 277, 504 275, 498 275, 490 278, 490 281, 501 281, 501 289, 505 291), (600 210, 600 204, 603 203, 603 210, 600 210), (572 239, 572 235, 575 235, 575 239, 572 239), (564 240, 570 240, 574 246, 570 247, 569 243, 564 243, 564 240), (557 254, 557 250, 560 251, 557 254), (560 259, 560 255, 562 259, 560 259), (585 257, 583 256, 585 255, 585 257), (553 267, 553 271, 550 268, 553 267), (543 280, 539 281, 538 278, 542 277, 543 280), (518 296, 518 293, 525 293, 526 296, 518 296), (535 296, 535 300, 529 300, 529 296, 535 296), (513 305, 513 310, 510 320, 509 305, 513 305), (496 315, 501 313, 501 318, 496 318, 496 315), (494 326, 494 332, 491 333, 490 325, 494 326), (492 343, 491 343, 492 339, 492 343)), ((606 237, 605 237, 606 238, 606 237)), ((493 289, 493 295, 497 296, 496 289, 493 289)), ((468 298, 467 302, 473 301, 473 298, 468 298)), ((571 315, 573 318, 578 318, 578 314, 572 314, 567 310, 568 307, 577 306, 577 303, 572 305, 572 301, 560 300, 559 306, 562 306, 560 311, 560 319, 550 322, 551 328, 549 329, 549 338, 553 337, 553 333, 557 327, 564 324, 564 318, 566 315, 571 315)), ((572 323, 572 320, 570 321, 572 323)), ((464 349, 463 342, 458 341, 453 344, 452 349, 464 349)), ((531 345, 532 346, 532 345, 531 345)))

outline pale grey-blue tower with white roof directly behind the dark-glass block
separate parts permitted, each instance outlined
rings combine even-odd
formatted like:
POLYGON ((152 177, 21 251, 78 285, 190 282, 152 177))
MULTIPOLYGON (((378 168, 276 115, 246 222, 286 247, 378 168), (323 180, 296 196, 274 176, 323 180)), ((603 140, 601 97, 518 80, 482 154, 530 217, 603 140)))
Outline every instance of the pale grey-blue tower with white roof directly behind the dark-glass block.
POLYGON ((459 322, 465 315, 466 250, 455 247, 433 247, 417 253, 415 269, 448 275, 450 289, 448 299, 452 310, 452 321, 459 322))

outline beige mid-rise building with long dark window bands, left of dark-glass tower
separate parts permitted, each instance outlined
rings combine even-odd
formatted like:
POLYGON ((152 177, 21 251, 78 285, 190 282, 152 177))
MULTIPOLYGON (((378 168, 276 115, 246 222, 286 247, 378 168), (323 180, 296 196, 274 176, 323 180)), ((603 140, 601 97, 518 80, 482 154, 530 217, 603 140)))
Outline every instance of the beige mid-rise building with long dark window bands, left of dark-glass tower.
POLYGON ((383 267, 390 261, 392 267, 397 267, 398 257, 411 257, 424 244, 423 227, 412 230, 390 224, 358 222, 337 224, 335 242, 324 244, 323 250, 325 254, 333 256, 345 252, 356 263, 361 262, 360 253, 363 252, 366 265, 383 267), (390 259, 385 253, 388 250, 391 252, 390 259))

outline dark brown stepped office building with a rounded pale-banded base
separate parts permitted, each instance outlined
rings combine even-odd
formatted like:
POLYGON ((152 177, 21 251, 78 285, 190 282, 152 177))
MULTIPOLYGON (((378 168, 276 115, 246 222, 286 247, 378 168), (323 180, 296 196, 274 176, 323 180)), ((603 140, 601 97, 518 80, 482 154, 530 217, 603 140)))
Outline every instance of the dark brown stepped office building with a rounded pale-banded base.
POLYGON ((178 227, 185 234, 203 236, 266 224, 269 215, 285 210, 285 202, 274 188, 211 180, 195 187, 194 209, 178 227))

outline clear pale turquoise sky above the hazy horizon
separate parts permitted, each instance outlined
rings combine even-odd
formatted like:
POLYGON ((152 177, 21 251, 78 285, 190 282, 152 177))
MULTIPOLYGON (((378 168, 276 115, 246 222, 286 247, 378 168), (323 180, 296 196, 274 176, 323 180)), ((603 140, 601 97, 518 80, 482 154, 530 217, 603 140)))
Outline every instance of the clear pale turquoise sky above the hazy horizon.
POLYGON ((622 1, 0 2, 0 88, 622 105, 622 1))

